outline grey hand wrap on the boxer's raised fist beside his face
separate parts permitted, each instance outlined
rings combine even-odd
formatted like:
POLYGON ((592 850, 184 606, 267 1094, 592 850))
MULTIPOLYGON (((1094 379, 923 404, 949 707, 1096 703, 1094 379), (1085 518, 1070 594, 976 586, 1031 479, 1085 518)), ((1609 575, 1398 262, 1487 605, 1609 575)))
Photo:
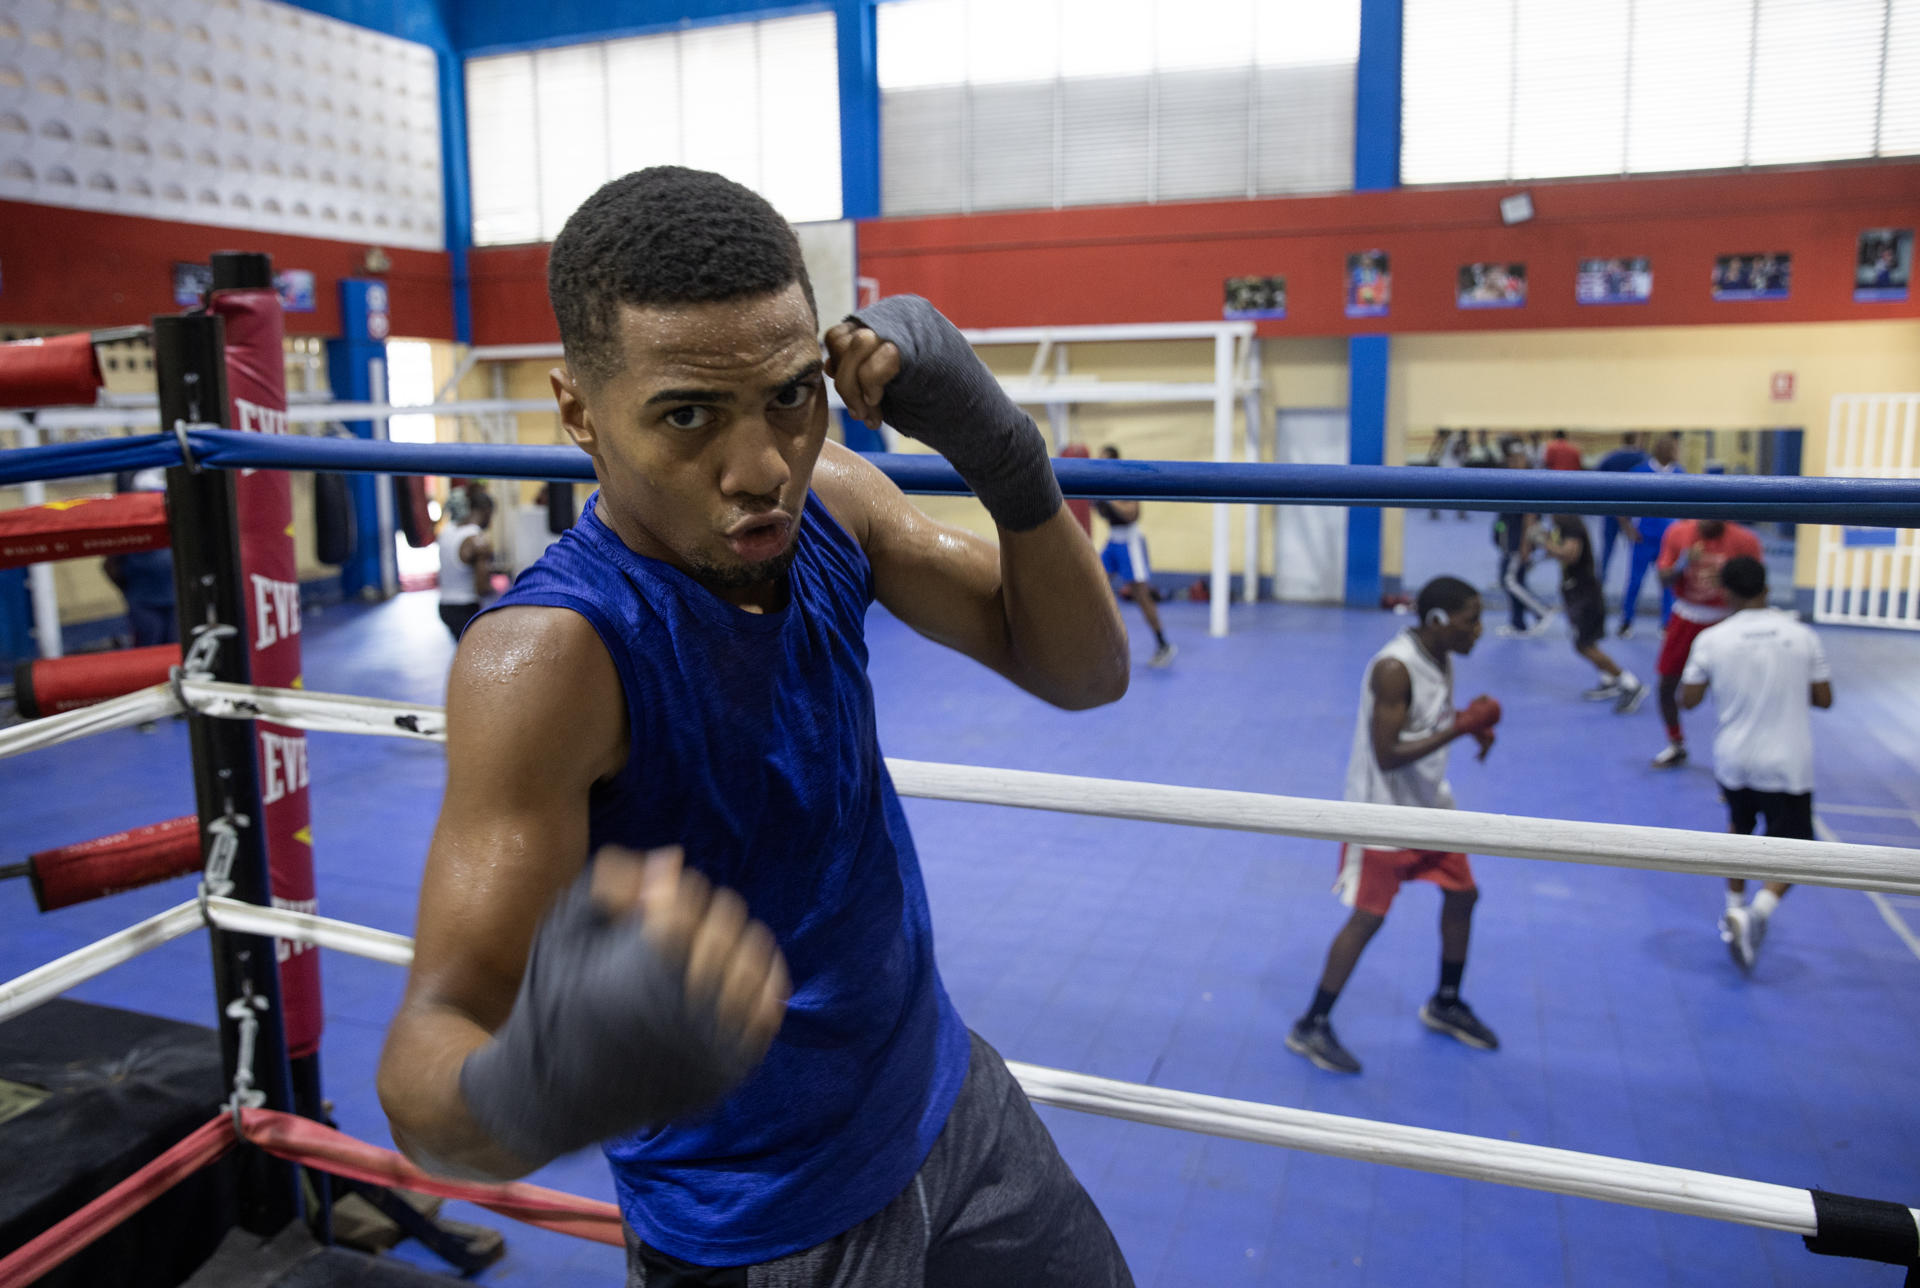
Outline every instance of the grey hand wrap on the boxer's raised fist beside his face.
POLYGON ((1060 482, 1046 440, 939 309, 920 296, 889 296, 847 321, 900 351, 900 374, 879 399, 887 424, 947 457, 1008 532, 1054 516, 1060 482))

